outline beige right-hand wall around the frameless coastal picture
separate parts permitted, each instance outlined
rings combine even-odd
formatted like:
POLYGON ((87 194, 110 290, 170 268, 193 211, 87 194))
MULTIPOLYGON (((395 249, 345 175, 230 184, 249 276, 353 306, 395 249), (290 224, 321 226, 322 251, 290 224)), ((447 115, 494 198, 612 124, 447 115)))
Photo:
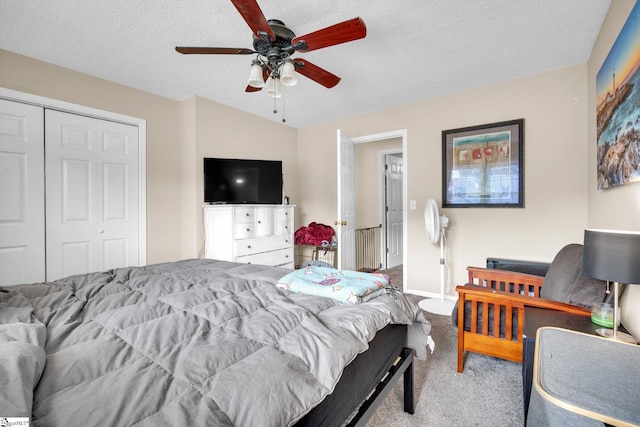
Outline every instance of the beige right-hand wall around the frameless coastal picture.
MULTIPOLYGON (((607 19, 587 64, 589 75, 589 207, 588 226, 640 231, 640 183, 598 190, 596 185, 596 75, 609 54, 635 0, 611 3, 607 19)), ((640 286, 630 286, 620 302, 622 323, 636 338, 640 338, 640 286)))

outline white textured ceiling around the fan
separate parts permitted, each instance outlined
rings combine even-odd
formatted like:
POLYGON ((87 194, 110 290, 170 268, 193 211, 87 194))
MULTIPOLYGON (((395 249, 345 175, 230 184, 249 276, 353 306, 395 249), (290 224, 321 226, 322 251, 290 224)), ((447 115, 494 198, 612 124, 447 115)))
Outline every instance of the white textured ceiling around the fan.
MULTIPOLYGON (((286 125, 303 128, 585 63, 610 0, 258 0, 303 35, 354 17, 367 36, 296 56, 342 77, 300 76, 286 125)), ((0 0, 0 48, 182 100, 198 95, 269 120, 282 104, 245 93, 252 56, 181 55, 175 46, 253 48, 229 0, 0 0)), ((0 64, 0 73, 2 72, 0 64)))

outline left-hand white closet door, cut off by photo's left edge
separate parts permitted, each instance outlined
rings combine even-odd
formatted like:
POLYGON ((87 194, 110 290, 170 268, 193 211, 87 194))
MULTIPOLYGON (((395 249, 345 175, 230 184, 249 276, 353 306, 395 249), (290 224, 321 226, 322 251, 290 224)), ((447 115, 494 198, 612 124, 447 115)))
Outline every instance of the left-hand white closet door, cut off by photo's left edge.
POLYGON ((45 279, 42 108, 0 99, 0 285, 45 279))

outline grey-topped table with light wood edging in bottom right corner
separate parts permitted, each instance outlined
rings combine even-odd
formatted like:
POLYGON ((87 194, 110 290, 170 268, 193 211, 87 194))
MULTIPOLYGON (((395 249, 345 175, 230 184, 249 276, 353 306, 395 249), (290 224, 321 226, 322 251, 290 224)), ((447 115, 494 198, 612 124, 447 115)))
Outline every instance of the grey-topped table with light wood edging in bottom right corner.
POLYGON ((640 425, 640 347, 540 328, 528 418, 535 426, 640 425))

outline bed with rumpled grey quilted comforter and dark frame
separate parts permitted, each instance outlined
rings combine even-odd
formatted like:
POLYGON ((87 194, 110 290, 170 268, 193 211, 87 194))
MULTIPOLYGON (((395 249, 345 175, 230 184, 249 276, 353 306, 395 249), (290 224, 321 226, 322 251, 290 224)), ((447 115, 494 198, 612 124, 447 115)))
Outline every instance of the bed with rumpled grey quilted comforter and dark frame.
POLYGON ((198 259, 0 288, 0 416, 336 425, 426 357, 430 324, 397 289, 342 303, 277 287, 289 272, 198 259))

